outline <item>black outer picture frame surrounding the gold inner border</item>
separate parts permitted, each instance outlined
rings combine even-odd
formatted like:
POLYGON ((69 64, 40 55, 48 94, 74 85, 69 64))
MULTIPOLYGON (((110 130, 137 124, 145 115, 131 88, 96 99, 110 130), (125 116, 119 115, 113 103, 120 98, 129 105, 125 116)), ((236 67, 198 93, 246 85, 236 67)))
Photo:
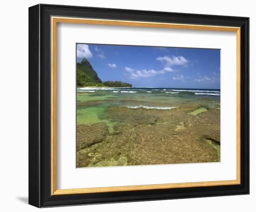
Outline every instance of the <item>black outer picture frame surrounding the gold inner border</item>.
POLYGON ((29 8, 29 204, 36 207, 249 194, 249 18, 39 4, 29 8), (51 16, 241 27, 241 184, 51 195, 51 16))

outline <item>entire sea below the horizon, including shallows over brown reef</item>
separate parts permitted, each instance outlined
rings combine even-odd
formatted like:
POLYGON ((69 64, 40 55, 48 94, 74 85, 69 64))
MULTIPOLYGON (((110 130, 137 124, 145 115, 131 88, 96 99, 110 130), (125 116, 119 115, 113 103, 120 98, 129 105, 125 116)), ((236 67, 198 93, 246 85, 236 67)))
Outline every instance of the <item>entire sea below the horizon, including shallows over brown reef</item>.
POLYGON ((220 94, 79 88, 77 167, 220 161, 220 94))

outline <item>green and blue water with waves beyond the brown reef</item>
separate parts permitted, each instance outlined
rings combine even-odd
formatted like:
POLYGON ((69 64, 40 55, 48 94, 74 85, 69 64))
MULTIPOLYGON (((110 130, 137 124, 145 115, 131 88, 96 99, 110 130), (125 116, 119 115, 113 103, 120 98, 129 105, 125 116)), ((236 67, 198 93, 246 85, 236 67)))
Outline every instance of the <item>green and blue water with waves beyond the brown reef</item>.
POLYGON ((220 94, 220 90, 213 89, 77 88, 77 125, 104 122, 112 129, 115 123, 107 114, 110 107, 148 110, 220 108, 220 94))

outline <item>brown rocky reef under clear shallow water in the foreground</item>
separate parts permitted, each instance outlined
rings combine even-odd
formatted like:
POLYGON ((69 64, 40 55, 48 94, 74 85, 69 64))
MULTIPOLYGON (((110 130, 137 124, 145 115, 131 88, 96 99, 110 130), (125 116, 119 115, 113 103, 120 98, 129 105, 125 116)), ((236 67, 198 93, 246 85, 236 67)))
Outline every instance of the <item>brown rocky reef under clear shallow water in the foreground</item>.
POLYGON ((116 123, 112 129, 106 123, 77 126, 77 167, 220 161, 217 108, 112 106, 107 118, 116 123))

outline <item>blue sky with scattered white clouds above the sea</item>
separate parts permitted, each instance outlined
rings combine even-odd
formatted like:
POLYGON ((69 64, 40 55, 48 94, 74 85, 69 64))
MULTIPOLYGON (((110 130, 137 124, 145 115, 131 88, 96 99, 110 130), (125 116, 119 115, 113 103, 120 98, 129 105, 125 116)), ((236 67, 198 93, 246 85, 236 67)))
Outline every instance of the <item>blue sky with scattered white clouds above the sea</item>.
POLYGON ((77 44, 102 81, 133 87, 220 89, 220 49, 77 44))

